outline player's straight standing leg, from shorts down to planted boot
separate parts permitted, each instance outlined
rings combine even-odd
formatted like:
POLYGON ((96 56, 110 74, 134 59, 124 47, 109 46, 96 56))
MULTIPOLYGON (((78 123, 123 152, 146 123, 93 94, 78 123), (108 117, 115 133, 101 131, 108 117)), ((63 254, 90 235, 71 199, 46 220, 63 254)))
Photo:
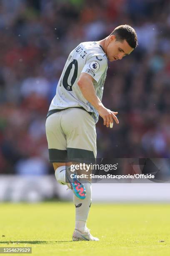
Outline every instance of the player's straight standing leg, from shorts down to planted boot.
MULTIPOLYGON (((96 157, 96 132, 95 122, 92 117, 84 110, 69 109, 63 113, 61 125, 67 139, 68 159, 78 163, 91 163, 96 157), (69 129, 68 129, 69 124, 69 129)), ((75 163, 74 163, 75 164, 75 163)), ((85 169, 77 170, 77 174, 87 174, 85 169)), ((89 173, 88 173, 89 174, 89 173)), ((86 197, 81 200, 75 195, 75 231, 73 241, 92 240, 93 238, 86 227, 86 222, 92 202, 92 187, 89 177, 79 179, 86 189, 86 197)))

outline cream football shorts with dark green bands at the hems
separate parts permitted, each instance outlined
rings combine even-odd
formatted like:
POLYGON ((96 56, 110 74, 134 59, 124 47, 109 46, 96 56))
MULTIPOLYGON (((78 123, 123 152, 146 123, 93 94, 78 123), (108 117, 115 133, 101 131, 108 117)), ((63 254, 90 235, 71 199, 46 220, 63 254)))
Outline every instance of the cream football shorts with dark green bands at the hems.
POLYGON ((57 111, 45 123, 49 161, 94 163, 97 154, 94 119, 79 108, 57 111))

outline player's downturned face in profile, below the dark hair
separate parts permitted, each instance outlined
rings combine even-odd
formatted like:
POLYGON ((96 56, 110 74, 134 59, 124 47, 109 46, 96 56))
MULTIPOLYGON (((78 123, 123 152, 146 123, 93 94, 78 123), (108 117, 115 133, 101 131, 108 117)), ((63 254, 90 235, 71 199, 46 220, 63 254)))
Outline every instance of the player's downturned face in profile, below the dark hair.
POLYGON ((110 61, 122 59, 124 56, 129 55, 134 49, 130 47, 127 41, 116 41, 115 36, 110 36, 107 45, 106 54, 110 61))

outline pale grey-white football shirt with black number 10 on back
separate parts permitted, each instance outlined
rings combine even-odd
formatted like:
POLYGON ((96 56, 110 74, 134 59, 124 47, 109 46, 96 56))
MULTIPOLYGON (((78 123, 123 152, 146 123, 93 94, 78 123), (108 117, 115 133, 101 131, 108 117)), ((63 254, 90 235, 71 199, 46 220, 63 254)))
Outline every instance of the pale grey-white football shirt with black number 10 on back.
POLYGON ((107 57, 102 46, 96 42, 80 43, 68 56, 49 110, 83 107, 92 112, 92 118, 97 123, 98 112, 82 95, 77 82, 81 73, 90 74, 95 79, 96 95, 102 100, 107 67, 107 57))

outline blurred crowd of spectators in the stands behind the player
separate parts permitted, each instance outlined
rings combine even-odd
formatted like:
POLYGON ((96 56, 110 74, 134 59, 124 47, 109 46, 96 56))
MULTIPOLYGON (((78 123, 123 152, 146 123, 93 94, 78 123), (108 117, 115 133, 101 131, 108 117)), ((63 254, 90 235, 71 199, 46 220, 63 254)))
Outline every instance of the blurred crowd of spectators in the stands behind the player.
POLYGON ((0 1, 0 173, 45 174, 45 118, 68 54, 129 24, 138 47, 108 63, 97 157, 170 158, 169 0, 0 1))

